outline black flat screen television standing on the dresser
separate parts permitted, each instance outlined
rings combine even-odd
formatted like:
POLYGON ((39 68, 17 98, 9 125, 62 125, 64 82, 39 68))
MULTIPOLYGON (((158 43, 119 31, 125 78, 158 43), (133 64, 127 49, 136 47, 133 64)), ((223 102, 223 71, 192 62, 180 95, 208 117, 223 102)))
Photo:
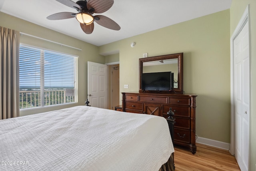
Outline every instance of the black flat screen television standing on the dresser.
POLYGON ((173 76, 172 72, 142 73, 141 89, 170 91, 174 86, 173 76))

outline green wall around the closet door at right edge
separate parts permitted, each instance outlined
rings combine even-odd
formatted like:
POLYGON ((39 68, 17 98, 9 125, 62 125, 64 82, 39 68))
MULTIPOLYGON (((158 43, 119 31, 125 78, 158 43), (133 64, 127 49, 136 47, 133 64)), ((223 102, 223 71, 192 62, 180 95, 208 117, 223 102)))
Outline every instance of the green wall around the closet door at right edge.
POLYGON ((250 112, 250 171, 256 170, 256 1, 255 0, 232 0, 230 8, 230 37, 240 21, 246 6, 249 5, 250 19, 250 54, 251 54, 251 112, 250 112))

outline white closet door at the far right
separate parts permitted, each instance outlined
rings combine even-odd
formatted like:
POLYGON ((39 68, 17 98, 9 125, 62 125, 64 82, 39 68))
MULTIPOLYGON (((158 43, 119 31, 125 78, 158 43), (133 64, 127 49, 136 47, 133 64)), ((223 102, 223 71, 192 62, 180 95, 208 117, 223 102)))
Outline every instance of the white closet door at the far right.
POLYGON ((248 171, 250 119, 250 58, 248 22, 234 39, 235 157, 241 171, 248 171))

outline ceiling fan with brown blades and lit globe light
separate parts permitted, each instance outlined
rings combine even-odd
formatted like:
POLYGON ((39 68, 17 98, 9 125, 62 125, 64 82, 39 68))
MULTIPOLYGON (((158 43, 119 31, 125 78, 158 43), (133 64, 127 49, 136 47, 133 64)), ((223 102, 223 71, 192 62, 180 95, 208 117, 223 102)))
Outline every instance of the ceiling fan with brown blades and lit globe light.
POLYGON ((120 26, 112 19, 103 15, 92 16, 94 13, 103 13, 109 10, 114 4, 114 0, 78 0, 77 2, 73 2, 72 0, 56 1, 76 9, 78 13, 60 12, 48 16, 48 20, 76 18, 78 22, 80 22, 80 26, 86 34, 92 33, 94 29, 94 21, 103 27, 112 30, 120 30, 120 26))

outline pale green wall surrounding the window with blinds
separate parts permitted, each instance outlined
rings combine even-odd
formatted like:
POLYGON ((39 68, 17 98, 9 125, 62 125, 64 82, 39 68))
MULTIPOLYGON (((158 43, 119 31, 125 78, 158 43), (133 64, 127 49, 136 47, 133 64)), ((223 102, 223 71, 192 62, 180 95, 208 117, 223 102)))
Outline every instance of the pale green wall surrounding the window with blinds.
POLYGON ((29 115, 34 113, 40 113, 45 111, 57 110, 66 107, 72 107, 75 105, 84 105, 87 98, 87 61, 97 62, 104 64, 104 56, 99 55, 99 48, 92 44, 83 42, 81 40, 66 36, 59 32, 38 26, 36 24, 21 20, 14 16, 0 12, 0 25, 6 28, 17 30, 25 34, 30 34, 68 46, 76 47, 82 50, 76 50, 73 48, 67 48, 60 46, 58 44, 50 43, 48 41, 40 40, 30 36, 20 36, 20 42, 25 44, 30 44, 34 46, 39 46, 42 48, 47 48, 50 50, 56 50, 60 52, 65 52, 68 54, 74 54, 79 56, 78 58, 78 103, 70 105, 58 105, 55 107, 44 107, 41 109, 26 109, 20 112, 20 115, 29 115))

